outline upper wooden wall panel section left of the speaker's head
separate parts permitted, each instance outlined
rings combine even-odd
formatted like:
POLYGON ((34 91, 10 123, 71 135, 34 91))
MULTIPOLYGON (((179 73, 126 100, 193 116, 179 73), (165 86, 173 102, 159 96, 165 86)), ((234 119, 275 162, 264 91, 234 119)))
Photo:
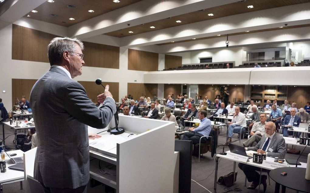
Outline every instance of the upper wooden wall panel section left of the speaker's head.
POLYGON ((12 25, 12 59, 49 62, 47 45, 57 37, 46 32, 12 25))

